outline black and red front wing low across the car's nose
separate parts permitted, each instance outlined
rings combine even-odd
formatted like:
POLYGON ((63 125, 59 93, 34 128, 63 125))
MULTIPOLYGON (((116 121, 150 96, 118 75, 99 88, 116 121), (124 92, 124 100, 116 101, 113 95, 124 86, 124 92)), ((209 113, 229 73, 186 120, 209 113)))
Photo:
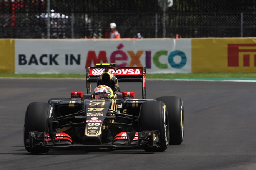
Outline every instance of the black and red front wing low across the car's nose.
POLYGON ((72 144, 65 134, 51 136, 45 132, 30 132, 29 146, 26 148, 69 148, 69 149, 143 149, 160 146, 159 131, 122 132, 107 144, 72 144), (50 137, 51 136, 51 137, 50 137))

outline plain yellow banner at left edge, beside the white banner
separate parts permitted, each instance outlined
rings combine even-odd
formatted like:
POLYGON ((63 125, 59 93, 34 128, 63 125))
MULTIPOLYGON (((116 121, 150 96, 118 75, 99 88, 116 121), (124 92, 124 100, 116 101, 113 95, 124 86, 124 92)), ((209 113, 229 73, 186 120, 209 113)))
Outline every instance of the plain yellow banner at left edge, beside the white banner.
POLYGON ((14 73, 14 39, 0 39, 0 73, 14 73))

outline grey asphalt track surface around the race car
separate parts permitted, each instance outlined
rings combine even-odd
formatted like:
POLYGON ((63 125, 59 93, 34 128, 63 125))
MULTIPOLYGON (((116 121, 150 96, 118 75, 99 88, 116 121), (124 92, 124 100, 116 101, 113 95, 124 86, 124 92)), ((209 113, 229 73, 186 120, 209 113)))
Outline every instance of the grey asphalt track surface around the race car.
MULTIPOLYGON (((0 169, 256 169, 256 88, 250 82, 147 81, 146 98, 180 96, 185 139, 165 152, 50 150, 30 154, 23 146, 27 105, 86 92, 86 80, 0 78, 0 169)), ((120 83, 135 91, 141 83, 120 83)))

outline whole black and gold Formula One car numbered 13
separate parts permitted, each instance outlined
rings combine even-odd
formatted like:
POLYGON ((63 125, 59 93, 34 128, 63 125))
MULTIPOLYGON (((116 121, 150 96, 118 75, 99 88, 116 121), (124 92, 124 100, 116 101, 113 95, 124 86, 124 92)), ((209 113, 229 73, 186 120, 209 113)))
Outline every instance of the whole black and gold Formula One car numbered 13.
POLYGON ((24 121, 25 149, 31 153, 53 148, 162 152, 169 144, 181 144, 181 98, 146 99, 145 67, 115 67, 103 63, 87 68, 87 94, 71 92, 71 98, 30 103, 24 121), (133 99, 134 92, 121 92, 118 82, 141 82, 142 99, 133 99), (97 83, 93 92, 91 83, 97 83))

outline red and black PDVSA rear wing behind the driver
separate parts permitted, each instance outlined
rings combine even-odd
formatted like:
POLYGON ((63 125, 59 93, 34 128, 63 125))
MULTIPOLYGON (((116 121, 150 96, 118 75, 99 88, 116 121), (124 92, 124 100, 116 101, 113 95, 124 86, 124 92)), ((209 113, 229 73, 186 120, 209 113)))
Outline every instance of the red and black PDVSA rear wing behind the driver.
MULTIPOLYGON (((111 64, 110 64, 111 66, 111 64)), ((88 67, 86 69, 86 87, 87 93, 91 93, 91 83, 96 83, 98 77, 108 69, 116 76, 118 82, 141 82, 142 98, 146 98, 146 68, 145 67, 106 67, 101 65, 97 67, 88 67)))

